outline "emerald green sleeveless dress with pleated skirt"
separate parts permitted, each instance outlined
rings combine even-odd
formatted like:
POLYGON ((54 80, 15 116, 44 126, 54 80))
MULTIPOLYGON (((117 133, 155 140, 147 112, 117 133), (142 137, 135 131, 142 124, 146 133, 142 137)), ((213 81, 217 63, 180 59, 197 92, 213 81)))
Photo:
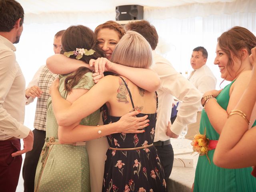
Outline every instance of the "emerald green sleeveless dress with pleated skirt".
MULTIPOLYGON (((218 104, 227 110, 230 99, 229 91, 232 81, 216 97, 218 104)), ((255 123, 254 123, 255 124, 255 123)), ((219 134, 214 130, 205 110, 202 110, 200 134, 210 140, 218 140, 219 134)), ((256 178, 251 175, 252 168, 226 169, 214 165, 212 159, 215 150, 208 152, 209 163, 206 155, 199 156, 194 180, 194 192, 254 192, 256 191, 256 178)))

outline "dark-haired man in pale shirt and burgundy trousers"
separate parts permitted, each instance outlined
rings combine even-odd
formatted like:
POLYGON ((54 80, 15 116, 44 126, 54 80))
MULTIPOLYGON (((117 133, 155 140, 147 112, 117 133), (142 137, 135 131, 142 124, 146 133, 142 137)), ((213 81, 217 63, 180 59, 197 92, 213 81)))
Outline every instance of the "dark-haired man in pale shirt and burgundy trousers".
POLYGON ((18 43, 24 10, 15 0, 0 1, 0 191, 15 192, 21 154, 32 150, 33 133, 23 125, 25 78, 16 62, 14 43, 18 43), (24 149, 20 150, 23 138, 24 149))

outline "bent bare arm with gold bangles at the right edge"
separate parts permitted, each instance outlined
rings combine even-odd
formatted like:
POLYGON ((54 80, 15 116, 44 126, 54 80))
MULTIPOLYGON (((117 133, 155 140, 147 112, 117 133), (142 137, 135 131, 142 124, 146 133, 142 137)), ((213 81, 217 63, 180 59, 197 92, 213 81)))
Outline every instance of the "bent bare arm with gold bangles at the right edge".
POLYGON ((256 177, 256 126, 248 129, 250 117, 256 116, 256 47, 251 51, 251 80, 220 134, 213 161, 224 168, 254 166, 252 175, 256 177))

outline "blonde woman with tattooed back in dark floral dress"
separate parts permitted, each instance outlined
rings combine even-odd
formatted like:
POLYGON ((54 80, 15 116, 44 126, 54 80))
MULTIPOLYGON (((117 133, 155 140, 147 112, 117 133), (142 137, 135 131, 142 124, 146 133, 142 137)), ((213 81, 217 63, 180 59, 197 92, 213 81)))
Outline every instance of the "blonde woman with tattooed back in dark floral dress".
MULTIPOLYGON (((141 67, 149 68, 152 64, 151 48, 140 34, 129 31, 117 44, 111 61, 133 66, 137 59, 140 59, 141 67)), ((72 104, 60 96, 56 81, 52 85, 52 101, 60 126, 61 142, 79 142, 107 136, 110 148, 106 153, 102 191, 166 191, 164 172, 153 146, 157 110, 155 92, 142 91, 128 78, 116 74, 102 78, 72 104), (127 112, 140 110, 141 114, 137 116, 148 116, 148 128, 140 134, 118 131, 109 134, 108 129, 98 126, 98 129, 88 134, 82 125, 74 125, 74 122, 88 116, 104 103, 104 124, 118 122, 127 112)))

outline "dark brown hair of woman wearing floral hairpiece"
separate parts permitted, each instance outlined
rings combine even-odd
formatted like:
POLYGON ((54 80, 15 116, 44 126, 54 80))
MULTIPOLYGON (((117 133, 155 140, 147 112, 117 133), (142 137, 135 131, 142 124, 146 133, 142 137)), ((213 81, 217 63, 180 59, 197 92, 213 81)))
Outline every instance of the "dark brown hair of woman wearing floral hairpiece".
MULTIPOLYGON (((87 50, 93 49, 95 52, 92 55, 86 56, 83 54, 80 60, 89 63, 90 59, 97 59, 102 57, 104 54, 102 50, 96 44, 96 36, 94 32, 83 25, 70 26, 65 30, 61 39, 62 50, 60 54, 64 52, 74 51, 76 48, 84 48, 87 50)), ((75 55, 70 56, 70 58, 76 59, 75 55)), ((90 72, 91 70, 86 67, 80 67, 71 75, 69 75, 65 80, 65 89, 70 92, 72 88, 78 84, 79 80, 84 74, 90 72)))

